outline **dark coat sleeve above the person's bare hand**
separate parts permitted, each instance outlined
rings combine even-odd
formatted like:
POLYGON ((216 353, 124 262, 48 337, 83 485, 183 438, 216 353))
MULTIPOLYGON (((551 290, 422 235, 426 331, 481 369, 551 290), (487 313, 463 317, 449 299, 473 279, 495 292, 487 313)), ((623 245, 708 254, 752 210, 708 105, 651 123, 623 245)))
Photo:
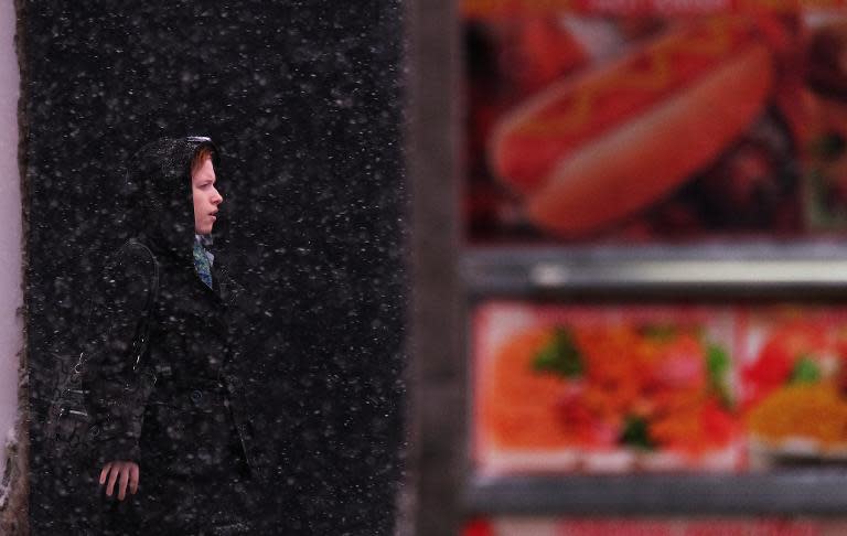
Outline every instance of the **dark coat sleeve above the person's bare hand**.
POLYGON ((97 459, 139 460, 139 439, 149 390, 133 369, 148 300, 153 260, 131 243, 107 264, 88 325, 83 385, 86 408, 97 426, 97 459))

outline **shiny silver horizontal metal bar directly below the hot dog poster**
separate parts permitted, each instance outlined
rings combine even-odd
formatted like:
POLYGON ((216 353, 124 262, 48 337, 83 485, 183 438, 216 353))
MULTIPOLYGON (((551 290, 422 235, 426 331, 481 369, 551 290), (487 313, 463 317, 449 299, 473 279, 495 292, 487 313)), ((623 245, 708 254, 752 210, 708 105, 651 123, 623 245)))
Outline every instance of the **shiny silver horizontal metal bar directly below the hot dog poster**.
POLYGON ((461 269, 474 294, 847 296, 847 248, 841 244, 473 248, 462 257, 461 269))

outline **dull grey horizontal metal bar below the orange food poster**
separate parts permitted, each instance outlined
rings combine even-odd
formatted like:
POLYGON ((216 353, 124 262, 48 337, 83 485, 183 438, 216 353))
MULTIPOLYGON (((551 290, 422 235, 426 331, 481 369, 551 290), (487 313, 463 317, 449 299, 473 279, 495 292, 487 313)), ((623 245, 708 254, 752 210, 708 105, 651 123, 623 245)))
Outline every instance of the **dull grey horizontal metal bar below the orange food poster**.
POLYGON ((847 511, 847 470, 760 474, 629 474, 472 480, 474 514, 821 515, 847 511))

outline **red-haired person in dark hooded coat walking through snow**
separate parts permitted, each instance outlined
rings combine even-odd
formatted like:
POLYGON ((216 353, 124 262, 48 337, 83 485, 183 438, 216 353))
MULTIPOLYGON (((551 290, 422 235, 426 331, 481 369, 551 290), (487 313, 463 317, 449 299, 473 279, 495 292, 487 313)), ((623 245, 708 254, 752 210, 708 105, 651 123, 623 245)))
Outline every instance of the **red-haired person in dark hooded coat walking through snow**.
POLYGON ((250 300, 203 246, 223 202, 217 161, 191 137, 129 167, 133 239, 106 270, 84 375, 107 533, 250 534, 265 469, 237 373, 250 300))

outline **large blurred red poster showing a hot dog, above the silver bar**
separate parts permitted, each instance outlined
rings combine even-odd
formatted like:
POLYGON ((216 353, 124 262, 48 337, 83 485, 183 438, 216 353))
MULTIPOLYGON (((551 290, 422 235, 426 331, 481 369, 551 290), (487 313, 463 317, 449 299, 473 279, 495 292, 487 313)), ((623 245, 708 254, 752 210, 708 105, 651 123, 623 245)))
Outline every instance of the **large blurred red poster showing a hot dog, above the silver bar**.
POLYGON ((844 234, 847 9, 589 1, 463 3, 472 244, 844 234))

